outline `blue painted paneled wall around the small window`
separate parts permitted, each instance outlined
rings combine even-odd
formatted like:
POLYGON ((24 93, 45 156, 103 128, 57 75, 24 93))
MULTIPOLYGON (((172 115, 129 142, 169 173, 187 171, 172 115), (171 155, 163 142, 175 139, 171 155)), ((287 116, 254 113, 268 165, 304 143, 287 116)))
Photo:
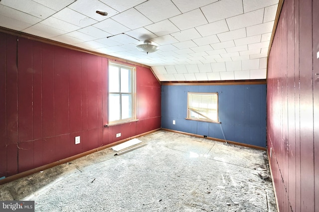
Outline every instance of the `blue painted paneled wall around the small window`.
POLYGON ((266 147, 266 85, 162 85, 161 127, 266 147), (187 92, 218 92, 221 124, 186 120, 187 92))

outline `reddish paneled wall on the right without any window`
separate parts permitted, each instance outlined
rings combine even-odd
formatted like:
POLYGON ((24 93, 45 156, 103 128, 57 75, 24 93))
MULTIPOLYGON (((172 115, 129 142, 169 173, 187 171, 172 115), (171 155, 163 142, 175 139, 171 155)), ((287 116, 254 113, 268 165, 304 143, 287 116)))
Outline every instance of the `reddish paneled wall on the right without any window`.
POLYGON ((267 76, 267 142, 282 212, 319 211, 319 1, 285 0, 267 76))

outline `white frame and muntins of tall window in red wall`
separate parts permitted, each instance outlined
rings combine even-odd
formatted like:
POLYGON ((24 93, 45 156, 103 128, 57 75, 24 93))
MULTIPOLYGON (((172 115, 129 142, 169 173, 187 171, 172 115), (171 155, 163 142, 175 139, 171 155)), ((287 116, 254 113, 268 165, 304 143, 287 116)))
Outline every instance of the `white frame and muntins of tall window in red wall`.
POLYGON ((108 68, 108 126, 110 125, 116 125, 116 124, 121 124, 125 122, 131 122, 131 121, 136 121, 136 67, 134 66, 128 66, 128 65, 123 65, 120 63, 114 63, 114 62, 109 62, 109 68, 108 68), (111 66, 118 67, 119 68, 119 92, 110 92, 110 70, 111 66), (131 92, 121 92, 121 68, 127 69, 131 71, 131 92), (111 104, 112 102, 110 101, 110 95, 119 95, 120 96, 120 119, 118 120, 110 120, 110 113, 114 111, 110 111, 111 109, 111 104), (131 111, 132 111, 132 117, 129 118, 122 118, 122 95, 130 95, 131 96, 131 111))

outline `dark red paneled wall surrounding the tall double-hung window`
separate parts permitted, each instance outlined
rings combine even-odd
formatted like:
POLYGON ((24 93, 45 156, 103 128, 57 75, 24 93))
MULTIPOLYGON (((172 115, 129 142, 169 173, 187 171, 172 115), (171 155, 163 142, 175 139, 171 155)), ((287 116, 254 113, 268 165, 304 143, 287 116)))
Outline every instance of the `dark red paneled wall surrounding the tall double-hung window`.
POLYGON ((0 33, 0 177, 160 128, 160 83, 136 70, 139 120, 104 127, 108 58, 0 33))

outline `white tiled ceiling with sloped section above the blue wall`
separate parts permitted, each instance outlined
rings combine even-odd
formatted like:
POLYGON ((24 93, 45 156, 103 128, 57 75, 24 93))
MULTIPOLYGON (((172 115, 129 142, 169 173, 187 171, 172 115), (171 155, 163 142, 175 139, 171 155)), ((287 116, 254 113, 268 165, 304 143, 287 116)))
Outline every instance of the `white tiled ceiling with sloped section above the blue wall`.
POLYGON ((278 0, 0 0, 0 26, 149 65, 160 81, 265 79, 277 7, 278 0), (146 39, 160 50, 138 51, 146 39))

